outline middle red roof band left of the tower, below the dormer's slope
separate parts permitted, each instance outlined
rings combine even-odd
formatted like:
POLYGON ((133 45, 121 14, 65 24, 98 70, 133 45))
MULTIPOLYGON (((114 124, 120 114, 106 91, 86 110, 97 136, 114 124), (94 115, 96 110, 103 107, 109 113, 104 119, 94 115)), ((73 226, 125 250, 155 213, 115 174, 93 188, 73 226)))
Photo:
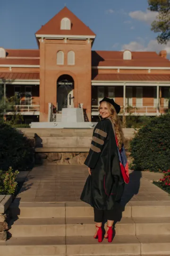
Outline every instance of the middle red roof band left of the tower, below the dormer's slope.
POLYGON ((39 65, 40 59, 0 58, 0 65, 39 65))

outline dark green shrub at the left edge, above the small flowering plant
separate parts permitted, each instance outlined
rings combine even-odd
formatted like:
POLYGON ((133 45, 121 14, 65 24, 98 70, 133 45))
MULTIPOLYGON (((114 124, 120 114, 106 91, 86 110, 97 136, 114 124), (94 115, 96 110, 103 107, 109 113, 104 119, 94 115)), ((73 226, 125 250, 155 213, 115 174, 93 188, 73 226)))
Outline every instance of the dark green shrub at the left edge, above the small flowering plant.
POLYGON ((34 148, 32 141, 24 134, 0 120, 0 169, 7 171, 32 168, 34 148))

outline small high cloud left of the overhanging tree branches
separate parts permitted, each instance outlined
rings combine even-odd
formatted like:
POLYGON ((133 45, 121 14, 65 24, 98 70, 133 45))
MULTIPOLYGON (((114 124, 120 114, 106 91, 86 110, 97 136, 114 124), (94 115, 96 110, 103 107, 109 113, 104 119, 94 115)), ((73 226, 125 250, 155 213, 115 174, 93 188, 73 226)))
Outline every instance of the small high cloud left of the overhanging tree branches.
POLYGON ((137 19, 137 20, 140 20, 140 21, 144 21, 144 22, 146 22, 148 24, 151 24, 153 22, 153 20, 155 20, 155 18, 157 17, 158 12, 156 12, 156 11, 149 11, 149 10, 146 10, 144 12, 144 11, 141 11, 141 10, 137 10, 137 11, 129 12, 128 15, 131 18, 134 18, 134 19, 137 19))

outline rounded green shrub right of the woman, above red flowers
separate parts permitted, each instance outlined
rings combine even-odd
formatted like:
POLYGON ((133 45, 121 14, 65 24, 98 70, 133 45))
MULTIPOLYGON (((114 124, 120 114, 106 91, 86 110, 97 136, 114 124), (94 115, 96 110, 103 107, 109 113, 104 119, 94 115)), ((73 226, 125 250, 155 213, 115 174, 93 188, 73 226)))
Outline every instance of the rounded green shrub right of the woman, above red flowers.
POLYGON ((170 114, 150 119, 130 142, 131 168, 154 172, 170 169, 170 114))

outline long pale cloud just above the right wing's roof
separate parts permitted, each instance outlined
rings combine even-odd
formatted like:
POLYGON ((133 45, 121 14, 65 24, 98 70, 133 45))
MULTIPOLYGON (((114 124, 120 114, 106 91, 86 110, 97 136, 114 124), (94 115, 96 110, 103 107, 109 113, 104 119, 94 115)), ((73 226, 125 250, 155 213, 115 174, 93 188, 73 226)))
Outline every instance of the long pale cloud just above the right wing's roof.
POLYGON ((146 45, 145 41, 139 40, 132 41, 129 44, 125 44, 122 46, 122 50, 130 50, 130 51, 139 51, 139 52, 160 52, 161 50, 166 50, 168 54, 170 54, 170 42, 167 45, 158 44, 157 40, 150 40, 146 45))

